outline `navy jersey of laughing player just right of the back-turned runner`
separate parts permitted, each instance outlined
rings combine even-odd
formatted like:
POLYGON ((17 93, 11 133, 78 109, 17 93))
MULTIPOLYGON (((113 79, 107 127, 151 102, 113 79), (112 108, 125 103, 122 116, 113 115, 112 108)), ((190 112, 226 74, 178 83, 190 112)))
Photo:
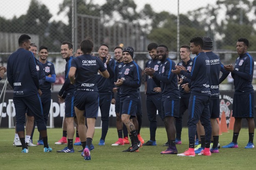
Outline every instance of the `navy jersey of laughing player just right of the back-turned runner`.
POLYGON ((97 87, 98 87, 98 92, 100 94, 109 94, 112 92, 112 89, 113 89, 112 78, 114 77, 113 73, 114 73, 114 67, 115 67, 115 60, 110 59, 108 64, 105 63, 106 61, 107 61, 107 58, 104 57, 102 62, 104 64, 104 67, 109 72, 109 78, 106 79, 105 77, 101 76, 99 73, 97 75, 97 87))

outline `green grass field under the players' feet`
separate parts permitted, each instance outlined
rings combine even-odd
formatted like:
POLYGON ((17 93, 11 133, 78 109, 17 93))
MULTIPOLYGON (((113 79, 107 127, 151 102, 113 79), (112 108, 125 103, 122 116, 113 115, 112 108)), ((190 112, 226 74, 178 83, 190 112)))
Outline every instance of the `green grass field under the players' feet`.
MULTIPOLYGON (((91 151, 92 160, 85 161, 78 150, 81 146, 74 146, 75 153, 56 153, 65 145, 54 145, 62 136, 62 129, 48 129, 48 142, 53 148, 52 153, 43 153, 43 146, 29 147, 29 153, 21 153, 21 147, 13 146, 14 129, 0 129, 0 170, 255 170, 256 149, 244 149, 248 142, 248 129, 242 129, 238 137, 239 148, 220 149, 220 153, 212 156, 178 157, 177 155, 161 155, 166 150, 162 146, 166 141, 164 128, 157 129, 157 146, 143 146, 138 153, 121 152, 125 146, 111 146, 117 140, 117 131, 110 128, 105 146, 98 146, 101 129, 95 129, 91 151)), ((220 144, 226 145, 232 140, 233 131, 220 136, 220 144)), ((149 128, 141 129, 141 136, 145 142, 149 139, 149 128)), ((34 144, 38 139, 35 131, 34 144)), ((188 129, 183 128, 182 145, 177 145, 178 153, 188 148, 188 129)))

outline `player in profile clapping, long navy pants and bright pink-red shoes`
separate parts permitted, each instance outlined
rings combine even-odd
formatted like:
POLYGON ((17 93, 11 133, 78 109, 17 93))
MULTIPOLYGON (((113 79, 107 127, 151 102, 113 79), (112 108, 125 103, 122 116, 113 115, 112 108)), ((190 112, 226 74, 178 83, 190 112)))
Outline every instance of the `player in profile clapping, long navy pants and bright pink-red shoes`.
POLYGON ((188 86, 191 88, 191 97, 188 104, 188 138, 189 148, 184 153, 178 156, 195 156, 195 136, 196 136, 196 123, 200 120, 205 130, 206 147, 198 155, 210 156, 211 144, 211 121, 209 102, 211 98, 211 91, 209 85, 210 76, 210 60, 203 52, 203 39, 202 37, 194 37, 190 40, 190 49, 192 54, 196 54, 193 59, 192 70, 187 73, 185 67, 176 66, 173 73, 181 74, 191 79, 188 86))

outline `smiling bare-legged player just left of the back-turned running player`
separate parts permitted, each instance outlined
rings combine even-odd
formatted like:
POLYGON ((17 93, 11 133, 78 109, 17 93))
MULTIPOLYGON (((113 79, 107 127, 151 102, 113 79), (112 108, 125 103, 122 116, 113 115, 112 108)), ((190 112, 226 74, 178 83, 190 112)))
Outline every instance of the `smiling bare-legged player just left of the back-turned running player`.
POLYGON ((63 148, 63 150, 57 150, 58 153, 74 153, 73 148, 73 138, 75 133, 74 128, 74 90, 75 86, 70 84, 70 79, 68 78, 68 72, 70 71, 71 61, 73 57, 73 44, 68 41, 64 41, 61 44, 61 54, 63 59, 66 60, 65 66, 65 83, 58 93, 59 102, 65 102, 65 121, 67 125, 67 138, 68 146, 63 148))

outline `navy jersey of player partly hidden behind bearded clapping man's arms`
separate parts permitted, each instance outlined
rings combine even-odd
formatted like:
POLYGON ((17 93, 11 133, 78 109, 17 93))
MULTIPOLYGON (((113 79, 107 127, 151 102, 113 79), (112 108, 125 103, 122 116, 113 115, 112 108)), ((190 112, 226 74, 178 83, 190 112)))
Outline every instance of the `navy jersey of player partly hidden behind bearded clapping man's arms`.
MULTIPOLYGON (((158 71, 161 66, 161 62, 158 59, 150 59, 146 62, 145 68, 154 68, 155 71, 158 71)), ((158 87, 155 81, 151 76, 146 75, 145 81, 147 82, 147 95, 158 94, 158 92, 154 91, 154 88, 158 87)))

